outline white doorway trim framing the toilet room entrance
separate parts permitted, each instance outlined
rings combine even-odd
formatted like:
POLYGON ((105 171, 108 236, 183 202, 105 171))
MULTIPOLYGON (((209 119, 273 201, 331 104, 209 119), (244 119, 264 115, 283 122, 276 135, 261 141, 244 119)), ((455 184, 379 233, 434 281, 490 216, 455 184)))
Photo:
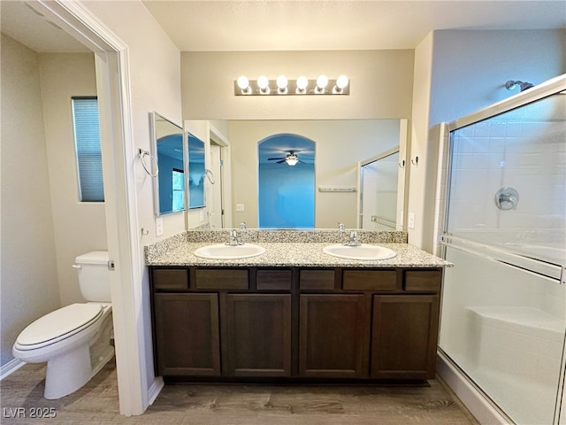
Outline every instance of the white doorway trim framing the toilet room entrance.
POLYGON ((156 379, 149 388, 148 377, 142 373, 151 359, 146 358, 143 321, 136 319, 142 306, 142 285, 136 283, 142 282, 145 266, 137 230, 128 47, 82 4, 63 0, 26 3, 95 54, 106 234, 115 265, 110 276, 119 412, 142 414, 163 388, 163 380, 156 379))

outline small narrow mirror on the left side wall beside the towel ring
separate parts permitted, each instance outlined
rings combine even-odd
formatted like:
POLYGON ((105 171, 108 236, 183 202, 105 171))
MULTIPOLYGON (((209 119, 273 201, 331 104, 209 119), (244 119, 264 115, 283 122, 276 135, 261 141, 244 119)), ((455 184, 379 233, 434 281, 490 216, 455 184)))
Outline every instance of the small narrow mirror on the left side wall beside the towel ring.
POLYGON ((156 215, 185 210, 185 155, 183 129, 157 112, 151 112, 153 155, 158 173, 154 179, 156 215))

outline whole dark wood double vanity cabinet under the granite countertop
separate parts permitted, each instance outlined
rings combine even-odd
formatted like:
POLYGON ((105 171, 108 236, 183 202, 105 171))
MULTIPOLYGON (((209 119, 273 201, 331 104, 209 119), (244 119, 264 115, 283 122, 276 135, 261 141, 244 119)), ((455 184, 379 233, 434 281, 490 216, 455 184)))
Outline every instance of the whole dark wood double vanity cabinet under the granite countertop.
POLYGON ((434 377, 440 268, 151 267, 158 375, 434 377))

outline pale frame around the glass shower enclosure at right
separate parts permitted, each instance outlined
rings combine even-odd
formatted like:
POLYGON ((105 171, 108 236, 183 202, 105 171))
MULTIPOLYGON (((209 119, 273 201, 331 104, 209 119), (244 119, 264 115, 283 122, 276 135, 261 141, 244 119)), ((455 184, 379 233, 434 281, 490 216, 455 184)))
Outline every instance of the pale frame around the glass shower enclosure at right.
MULTIPOLYGON (((446 237, 445 233, 448 226, 448 199, 450 190, 450 174, 451 168, 450 149, 451 143, 449 140, 450 133, 460 128, 470 126, 482 120, 487 120, 494 116, 500 115, 505 112, 512 111, 516 108, 526 104, 532 104, 545 97, 550 97, 558 93, 566 96, 566 74, 562 74, 551 80, 545 81, 532 89, 527 89, 512 97, 501 100, 495 104, 480 109, 477 112, 472 112, 464 115, 449 123, 442 123, 440 125, 440 150, 439 150, 439 172, 436 189, 436 222, 434 225, 434 234, 438 237, 435 238, 433 251, 445 258, 446 246, 443 244, 443 239, 446 237)), ((562 273, 560 282, 566 283, 566 267, 562 265, 562 273)), ((440 314, 440 323, 442 321, 442 314, 440 314)), ((566 424, 566 367, 564 362, 566 360, 566 340, 562 350, 562 365, 559 376, 559 388, 562 389, 562 398, 556 399, 557 408, 555 409, 556 424, 566 424)), ((447 354, 438 346, 438 359, 437 359, 438 375, 454 390, 456 396, 460 398, 464 405, 470 410, 480 423, 509 423, 509 417, 497 406, 487 394, 474 383, 463 370, 450 359, 447 354)), ((512 423, 512 421, 511 421, 512 423)))

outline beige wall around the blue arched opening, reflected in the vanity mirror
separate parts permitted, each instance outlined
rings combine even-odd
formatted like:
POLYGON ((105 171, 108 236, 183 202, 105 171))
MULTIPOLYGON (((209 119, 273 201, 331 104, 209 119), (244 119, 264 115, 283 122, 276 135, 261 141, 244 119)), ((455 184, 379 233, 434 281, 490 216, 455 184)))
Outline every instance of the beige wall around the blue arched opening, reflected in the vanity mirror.
POLYGON ((301 135, 316 143, 315 226, 358 227, 358 192, 319 192, 323 188, 356 188, 357 162, 399 144, 398 120, 234 120, 232 143, 233 227, 245 221, 257 227, 257 143, 280 133, 301 135), (235 205, 243 204, 244 213, 235 205))

